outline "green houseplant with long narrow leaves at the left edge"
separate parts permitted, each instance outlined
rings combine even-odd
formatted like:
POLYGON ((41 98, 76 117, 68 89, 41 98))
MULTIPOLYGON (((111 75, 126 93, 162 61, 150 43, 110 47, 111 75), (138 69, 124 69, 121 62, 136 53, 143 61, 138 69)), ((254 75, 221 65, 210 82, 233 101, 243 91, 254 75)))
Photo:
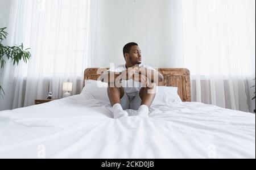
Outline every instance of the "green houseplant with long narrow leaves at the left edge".
MULTIPOLYGON (((30 59, 31 54, 28 52, 28 49, 23 49, 23 44, 19 46, 5 46, 2 44, 2 41, 6 39, 6 36, 8 35, 7 32, 5 32, 6 28, 0 28, 0 66, 1 69, 5 67, 6 61, 13 62, 13 65, 15 63, 18 65, 19 61, 23 59, 25 63, 27 63, 28 59, 30 59)), ((0 95, 3 97, 5 95, 5 91, 3 91, 3 88, 1 86, 0 82, 0 95)))

